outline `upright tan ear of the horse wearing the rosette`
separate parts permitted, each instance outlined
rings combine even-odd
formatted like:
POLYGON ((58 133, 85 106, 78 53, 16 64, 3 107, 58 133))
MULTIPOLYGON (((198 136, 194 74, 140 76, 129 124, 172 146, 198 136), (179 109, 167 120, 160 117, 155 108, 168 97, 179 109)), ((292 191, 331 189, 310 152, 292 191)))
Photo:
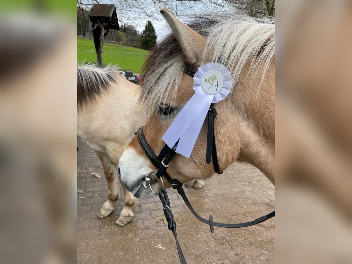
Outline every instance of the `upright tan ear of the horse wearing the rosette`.
POLYGON ((195 64, 201 62, 205 48, 205 38, 189 26, 183 24, 167 8, 162 8, 160 13, 166 19, 174 32, 178 43, 180 43, 182 52, 187 58, 187 61, 195 64))

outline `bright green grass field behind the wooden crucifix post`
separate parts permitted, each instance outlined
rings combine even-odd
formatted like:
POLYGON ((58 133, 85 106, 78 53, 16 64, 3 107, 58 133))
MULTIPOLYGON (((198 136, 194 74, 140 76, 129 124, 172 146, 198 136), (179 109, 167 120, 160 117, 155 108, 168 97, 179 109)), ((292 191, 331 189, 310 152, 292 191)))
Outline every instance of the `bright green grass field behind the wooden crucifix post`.
MULTIPOLYGON (((149 51, 106 43, 102 56, 103 64, 119 65, 121 70, 132 70, 140 73, 140 68, 149 51)), ((77 38, 77 61, 78 63, 96 63, 94 42, 90 39, 77 38)))

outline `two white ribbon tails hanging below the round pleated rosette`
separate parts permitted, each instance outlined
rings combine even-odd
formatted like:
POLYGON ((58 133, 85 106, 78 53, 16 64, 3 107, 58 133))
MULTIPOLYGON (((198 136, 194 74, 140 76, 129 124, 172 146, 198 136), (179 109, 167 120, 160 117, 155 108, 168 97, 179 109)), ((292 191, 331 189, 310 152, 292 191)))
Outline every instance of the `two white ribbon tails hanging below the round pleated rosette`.
POLYGON ((213 98, 214 95, 197 89, 166 130, 162 137, 164 142, 172 147, 180 139, 176 152, 189 158, 213 98))

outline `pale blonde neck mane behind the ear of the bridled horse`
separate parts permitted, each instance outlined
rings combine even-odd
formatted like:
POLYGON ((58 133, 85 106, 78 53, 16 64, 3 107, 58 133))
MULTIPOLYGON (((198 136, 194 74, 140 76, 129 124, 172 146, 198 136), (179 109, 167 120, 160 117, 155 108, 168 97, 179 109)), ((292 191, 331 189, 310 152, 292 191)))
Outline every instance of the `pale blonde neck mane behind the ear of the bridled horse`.
POLYGON ((211 58, 212 62, 226 65, 234 84, 247 62, 250 63, 248 77, 253 79, 262 74, 262 82, 275 58, 275 20, 244 13, 220 20, 209 32, 205 51, 203 64, 211 58))

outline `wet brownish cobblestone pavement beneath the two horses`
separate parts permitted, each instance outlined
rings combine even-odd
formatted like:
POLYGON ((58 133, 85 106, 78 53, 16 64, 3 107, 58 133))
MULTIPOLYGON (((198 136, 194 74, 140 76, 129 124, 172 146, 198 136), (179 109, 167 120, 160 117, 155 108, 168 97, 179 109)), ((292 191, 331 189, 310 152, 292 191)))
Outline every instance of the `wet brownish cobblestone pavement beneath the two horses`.
MULTIPOLYGON (((78 141, 77 263, 180 263, 175 240, 165 224, 157 196, 139 199, 136 216, 124 227, 115 225, 122 199, 111 216, 96 213, 107 199, 107 183, 95 152, 78 141), (96 178, 93 172, 102 177, 96 178), (158 246, 159 245, 159 246, 158 246)), ((214 221, 253 220, 275 207, 275 188, 256 168, 232 164, 205 180, 203 190, 185 188, 196 211, 214 221)), ((274 263, 275 218, 246 228, 214 227, 198 221, 176 190, 169 189, 177 234, 187 263, 274 263)))

